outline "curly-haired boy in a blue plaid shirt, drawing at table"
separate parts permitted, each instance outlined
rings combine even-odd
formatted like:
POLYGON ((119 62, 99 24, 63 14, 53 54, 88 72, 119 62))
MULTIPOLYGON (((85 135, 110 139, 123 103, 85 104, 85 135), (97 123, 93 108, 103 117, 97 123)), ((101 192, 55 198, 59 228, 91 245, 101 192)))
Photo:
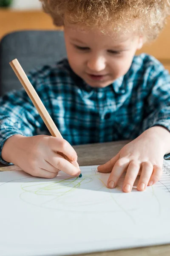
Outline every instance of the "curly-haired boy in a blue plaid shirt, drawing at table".
POLYGON ((152 56, 134 55, 163 28, 168 0, 41 2, 64 25, 68 60, 28 77, 65 140, 49 136, 24 90, 8 93, 0 100, 1 162, 38 177, 79 175, 57 151, 74 161, 71 145, 131 139, 98 170, 111 172, 109 188, 126 172, 124 192, 140 173, 144 191, 170 156, 170 75, 152 56))

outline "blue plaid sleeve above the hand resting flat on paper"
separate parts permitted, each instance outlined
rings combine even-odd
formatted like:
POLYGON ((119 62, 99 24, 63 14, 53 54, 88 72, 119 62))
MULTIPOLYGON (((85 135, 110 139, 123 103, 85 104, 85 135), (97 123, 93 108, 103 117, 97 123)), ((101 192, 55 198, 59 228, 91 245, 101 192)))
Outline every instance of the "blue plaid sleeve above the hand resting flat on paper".
MULTIPOLYGON (((148 75, 149 93, 144 102, 142 132, 153 126, 163 126, 170 131, 170 74, 159 62, 148 75)), ((170 159, 170 154, 164 155, 170 159)))

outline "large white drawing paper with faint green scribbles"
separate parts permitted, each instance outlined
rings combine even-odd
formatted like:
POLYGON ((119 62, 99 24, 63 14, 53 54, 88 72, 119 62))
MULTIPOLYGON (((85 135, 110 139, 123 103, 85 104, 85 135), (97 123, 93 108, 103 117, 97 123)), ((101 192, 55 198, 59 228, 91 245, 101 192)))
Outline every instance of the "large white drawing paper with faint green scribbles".
POLYGON ((170 243, 170 176, 146 191, 108 189, 109 174, 54 179, 0 173, 0 256, 59 256, 170 243))

